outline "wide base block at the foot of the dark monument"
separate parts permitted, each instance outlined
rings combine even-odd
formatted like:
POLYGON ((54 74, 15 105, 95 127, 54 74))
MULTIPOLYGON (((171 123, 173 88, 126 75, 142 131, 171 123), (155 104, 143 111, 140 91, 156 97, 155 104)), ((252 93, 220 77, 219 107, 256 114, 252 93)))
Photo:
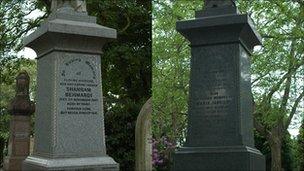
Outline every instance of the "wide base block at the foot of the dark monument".
POLYGON ((184 147, 174 154, 174 171, 263 171, 265 158, 257 149, 237 147, 184 147))

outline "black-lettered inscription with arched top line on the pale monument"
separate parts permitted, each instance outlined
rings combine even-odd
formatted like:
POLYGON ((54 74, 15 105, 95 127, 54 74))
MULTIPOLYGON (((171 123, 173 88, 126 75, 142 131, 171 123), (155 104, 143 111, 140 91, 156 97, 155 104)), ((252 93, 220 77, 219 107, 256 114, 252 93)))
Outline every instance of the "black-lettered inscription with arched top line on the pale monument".
POLYGON ((98 81, 94 60, 69 58, 61 63, 59 114, 97 114, 98 81))

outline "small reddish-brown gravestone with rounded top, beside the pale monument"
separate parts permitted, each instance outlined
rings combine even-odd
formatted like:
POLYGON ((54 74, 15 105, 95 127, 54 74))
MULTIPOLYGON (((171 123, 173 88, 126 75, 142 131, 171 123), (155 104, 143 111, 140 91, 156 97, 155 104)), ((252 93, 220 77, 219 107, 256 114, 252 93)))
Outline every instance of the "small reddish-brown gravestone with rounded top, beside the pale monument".
POLYGON ((16 96, 9 106, 11 113, 8 156, 4 170, 21 170, 23 160, 30 152, 31 114, 35 105, 29 97, 30 77, 22 71, 16 78, 16 96))

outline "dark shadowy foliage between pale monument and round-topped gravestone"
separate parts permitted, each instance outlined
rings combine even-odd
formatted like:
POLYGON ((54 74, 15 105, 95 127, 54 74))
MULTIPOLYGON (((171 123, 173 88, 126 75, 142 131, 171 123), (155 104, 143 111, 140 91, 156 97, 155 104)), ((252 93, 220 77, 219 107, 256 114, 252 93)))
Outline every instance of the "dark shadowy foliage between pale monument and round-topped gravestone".
POLYGON ((134 170, 136 119, 151 96, 151 3, 92 0, 87 6, 100 24, 118 31, 101 57, 106 144, 122 170, 134 170))

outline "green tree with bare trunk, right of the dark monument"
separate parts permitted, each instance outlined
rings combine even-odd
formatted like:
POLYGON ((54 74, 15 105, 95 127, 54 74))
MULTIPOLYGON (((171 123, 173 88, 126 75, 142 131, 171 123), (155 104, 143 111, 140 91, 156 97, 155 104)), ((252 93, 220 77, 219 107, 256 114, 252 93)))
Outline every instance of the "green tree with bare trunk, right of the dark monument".
POLYGON ((252 57, 255 128, 271 149, 271 170, 282 169, 282 143, 297 113, 303 112, 304 2, 239 1, 263 38, 252 57))

